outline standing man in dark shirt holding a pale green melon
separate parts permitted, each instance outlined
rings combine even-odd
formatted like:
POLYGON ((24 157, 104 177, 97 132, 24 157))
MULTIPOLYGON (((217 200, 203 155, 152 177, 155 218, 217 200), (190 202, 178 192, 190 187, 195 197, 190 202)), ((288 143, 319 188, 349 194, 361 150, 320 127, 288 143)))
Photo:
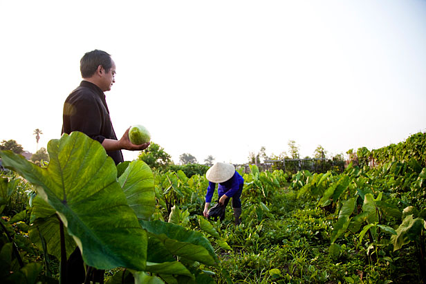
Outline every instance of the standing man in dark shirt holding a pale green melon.
MULTIPOLYGON (((115 63, 111 55, 102 50, 86 53, 80 60, 82 82, 65 100, 62 115, 62 133, 80 131, 104 146, 115 164, 124 162, 121 150, 141 151, 149 142, 141 145, 129 140, 129 129, 117 140, 104 92, 115 83, 115 63)), ((103 283, 104 271, 88 269, 88 279, 103 283), (101 282, 102 281, 102 282, 101 282)), ((83 283, 86 278, 84 262, 77 247, 67 262, 67 284, 83 283)))

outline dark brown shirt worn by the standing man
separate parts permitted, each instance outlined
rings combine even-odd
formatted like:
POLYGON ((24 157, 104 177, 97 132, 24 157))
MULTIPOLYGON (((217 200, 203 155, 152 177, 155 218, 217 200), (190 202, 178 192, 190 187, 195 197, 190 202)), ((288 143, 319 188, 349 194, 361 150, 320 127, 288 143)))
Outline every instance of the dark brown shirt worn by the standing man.
MULTIPOLYGON (((80 131, 101 144, 106 138, 117 140, 105 94, 95 84, 82 81, 65 100, 62 133, 80 131)), ((109 151, 115 164, 123 162, 121 151, 109 151)))

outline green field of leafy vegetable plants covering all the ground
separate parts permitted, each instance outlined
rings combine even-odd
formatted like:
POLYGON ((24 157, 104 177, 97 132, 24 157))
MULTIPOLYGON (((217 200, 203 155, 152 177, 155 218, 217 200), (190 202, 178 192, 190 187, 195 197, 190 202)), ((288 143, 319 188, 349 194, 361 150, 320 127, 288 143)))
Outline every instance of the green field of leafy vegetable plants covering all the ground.
POLYGON ((1 282, 66 283, 78 246, 105 283, 425 283, 424 135, 415 141, 398 158, 361 149, 343 173, 251 166, 239 226, 230 206, 222 223, 202 216, 205 176, 115 167, 82 133, 51 140, 42 167, 0 151, 12 169, 0 176, 1 282))

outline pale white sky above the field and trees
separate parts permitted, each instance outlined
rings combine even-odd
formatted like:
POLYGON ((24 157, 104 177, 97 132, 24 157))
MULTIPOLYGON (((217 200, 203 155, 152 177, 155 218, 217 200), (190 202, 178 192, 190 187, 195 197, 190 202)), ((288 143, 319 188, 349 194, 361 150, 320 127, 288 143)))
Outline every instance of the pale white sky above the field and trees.
MULTIPOLYGON (((80 58, 110 53, 118 137, 142 124, 178 163, 378 149, 426 131, 426 1, 0 0, 0 141, 60 138, 80 58)), ((123 151, 125 160, 138 152, 123 151)))

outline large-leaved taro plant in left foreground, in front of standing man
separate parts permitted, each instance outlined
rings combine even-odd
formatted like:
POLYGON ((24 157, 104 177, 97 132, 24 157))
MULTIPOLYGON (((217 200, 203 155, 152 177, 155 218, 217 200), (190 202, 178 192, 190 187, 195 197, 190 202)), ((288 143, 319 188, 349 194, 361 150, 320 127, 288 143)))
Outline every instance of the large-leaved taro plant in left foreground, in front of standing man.
MULTIPOLYGON (((44 219, 39 220, 38 229, 45 239, 61 232, 52 227, 47 231, 47 226, 43 229, 46 222, 55 228, 53 216, 57 215, 59 227, 63 224, 64 233, 80 247, 84 263, 97 269, 126 267, 135 278, 150 272, 158 279, 168 279, 165 281, 172 281, 174 274, 194 281, 194 274, 185 265, 194 269, 195 261, 205 265, 218 262, 210 242, 201 234, 172 223, 149 221, 155 209, 154 178, 144 162, 129 163, 117 178, 114 162, 104 148, 78 132, 50 140, 48 152, 50 163, 46 168, 11 151, 0 152, 6 166, 35 184, 40 198, 33 204, 32 218, 44 219), (186 245, 176 249, 176 243, 186 245), (194 250, 200 257, 194 259, 194 250), (185 264, 172 261, 174 256, 185 264)), ((65 234, 60 235, 61 241, 56 243, 60 244, 63 263, 66 239, 62 237, 65 234)), ((55 246, 53 240, 48 240, 49 246, 55 246)))

